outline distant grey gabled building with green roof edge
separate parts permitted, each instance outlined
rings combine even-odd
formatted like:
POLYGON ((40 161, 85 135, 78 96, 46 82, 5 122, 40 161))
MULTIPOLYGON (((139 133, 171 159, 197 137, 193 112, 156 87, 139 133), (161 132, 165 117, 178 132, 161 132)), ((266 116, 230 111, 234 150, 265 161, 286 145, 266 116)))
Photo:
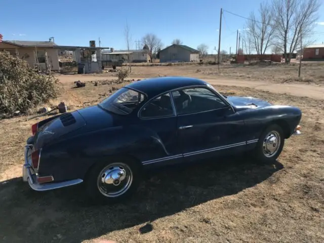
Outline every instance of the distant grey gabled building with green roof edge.
POLYGON ((199 61, 199 51, 185 46, 172 45, 159 53, 160 62, 197 62, 199 61))

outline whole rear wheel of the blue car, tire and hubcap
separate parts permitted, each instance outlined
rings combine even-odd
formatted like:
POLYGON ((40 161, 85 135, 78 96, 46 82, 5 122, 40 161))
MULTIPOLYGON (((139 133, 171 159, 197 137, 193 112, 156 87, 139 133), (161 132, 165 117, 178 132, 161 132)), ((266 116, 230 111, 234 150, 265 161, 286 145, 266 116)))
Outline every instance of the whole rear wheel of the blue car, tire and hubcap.
POLYGON ((138 186, 140 173, 134 161, 111 159, 95 165, 86 179, 87 194, 94 203, 116 203, 129 197, 138 186))

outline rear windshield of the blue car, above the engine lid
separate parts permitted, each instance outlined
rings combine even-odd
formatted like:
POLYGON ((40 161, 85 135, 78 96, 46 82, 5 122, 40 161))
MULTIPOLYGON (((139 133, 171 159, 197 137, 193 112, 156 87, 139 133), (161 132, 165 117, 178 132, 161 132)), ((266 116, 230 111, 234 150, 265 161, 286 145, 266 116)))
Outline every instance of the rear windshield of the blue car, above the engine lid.
POLYGON ((141 104, 144 99, 144 94, 124 87, 100 102, 99 106, 113 113, 127 115, 141 104))

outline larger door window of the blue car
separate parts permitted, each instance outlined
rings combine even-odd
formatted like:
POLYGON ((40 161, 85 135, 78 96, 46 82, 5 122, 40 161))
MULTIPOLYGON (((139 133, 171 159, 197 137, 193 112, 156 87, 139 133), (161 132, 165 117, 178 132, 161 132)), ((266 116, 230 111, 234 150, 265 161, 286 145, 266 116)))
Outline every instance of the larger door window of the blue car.
POLYGON ((172 92, 177 114, 214 110, 228 105, 207 88, 188 88, 172 92), (180 95, 178 95, 178 92, 180 95))

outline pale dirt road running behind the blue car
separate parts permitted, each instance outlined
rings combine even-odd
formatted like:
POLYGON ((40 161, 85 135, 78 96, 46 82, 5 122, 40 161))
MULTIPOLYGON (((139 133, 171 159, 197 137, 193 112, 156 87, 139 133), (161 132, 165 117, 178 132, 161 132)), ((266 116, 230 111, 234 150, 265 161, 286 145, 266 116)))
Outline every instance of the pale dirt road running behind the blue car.
MULTIPOLYGON (((115 78, 112 76, 102 76, 102 75, 59 75, 58 76, 61 83, 73 83, 75 80, 80 80, 81 82, 92 81, 92 80, 104 80, 115 78)), ((140 76, 130 76, 130 79, 142 79, 140 76)), ((201 78, 198 77, 197 78, 201 78)), ((238 86, 238 87, 248 87, 263 91, 269 91, 279 94, 291 94, 295 96, 306 96, 315 99, 324 99, 324 87, 309 85, 309 84, 286 84, 286 83, 269 83, 264 81, 255 80, 242 80, 242 79, 227 79, 227 78, 201 78, 211 85, 225 85, 225 86, 238 86)))

